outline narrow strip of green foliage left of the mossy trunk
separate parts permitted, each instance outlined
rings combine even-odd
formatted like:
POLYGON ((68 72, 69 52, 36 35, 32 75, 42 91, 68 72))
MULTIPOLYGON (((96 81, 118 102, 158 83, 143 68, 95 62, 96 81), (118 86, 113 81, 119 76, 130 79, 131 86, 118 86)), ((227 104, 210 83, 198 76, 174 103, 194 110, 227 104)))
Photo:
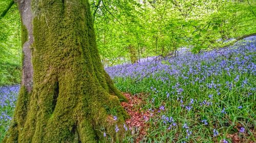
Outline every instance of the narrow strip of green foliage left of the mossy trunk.
MULTIPOLYGON (((0 14, 10 1, 0 2, 0 14)), ((0 85, 20 82, 20 21, 16 5, 0 19, 0 85)))

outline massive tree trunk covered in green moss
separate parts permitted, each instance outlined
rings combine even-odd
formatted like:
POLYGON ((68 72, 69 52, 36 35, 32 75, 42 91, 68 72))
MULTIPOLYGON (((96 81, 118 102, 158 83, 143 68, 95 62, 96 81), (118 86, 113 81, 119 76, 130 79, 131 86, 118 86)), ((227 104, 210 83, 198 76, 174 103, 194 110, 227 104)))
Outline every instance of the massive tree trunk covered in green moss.
POLYGON ((22 87, 3 142, 120 139, 126 98, 101 64, 88 0, 18 0, 18 8, 22 87))

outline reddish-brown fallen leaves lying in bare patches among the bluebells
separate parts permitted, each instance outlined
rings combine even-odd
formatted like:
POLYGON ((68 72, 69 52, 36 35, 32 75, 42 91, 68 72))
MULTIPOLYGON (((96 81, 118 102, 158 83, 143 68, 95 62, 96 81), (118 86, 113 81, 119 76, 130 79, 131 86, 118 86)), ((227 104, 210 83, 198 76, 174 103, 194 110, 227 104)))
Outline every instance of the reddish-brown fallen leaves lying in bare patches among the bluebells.
MULTIPOLYGON (((144 136, 146 136, 147 130, 150 127, 150 124, 148 124, 147 121, 154 116, 154 113, 142 109, 142 107, 146 104, 146 101, 144 100, 147 97, 146 94, 142 93, 138 95, 131 95, 130 93, 123 93, 123 95, 129 99, 129 101, 121 102, 121 105, 131 117, 130 119, 127 119, 125 123, 129 126, 129 129, 135 138, 135 142, 139 143, 143 140, 144 136)), ((157 112, 155 112, 155 114, 157 114, 157 112)), ((256 137, 256 130, 251 130, 251 132, 253 133, 253 136, 256 137)), ((247 136, 249 136, 249 134, 247 134, 247 136)), ((230 141, 233 143, 248 142, 248 140, 245 138, 240 137, 240 132, 226 134, 226 137, 230 138, 230 141)), ((215 142, 217 143, 218 141, 215 142)), ((248 143, 254 142, 249 141, 248 143)))

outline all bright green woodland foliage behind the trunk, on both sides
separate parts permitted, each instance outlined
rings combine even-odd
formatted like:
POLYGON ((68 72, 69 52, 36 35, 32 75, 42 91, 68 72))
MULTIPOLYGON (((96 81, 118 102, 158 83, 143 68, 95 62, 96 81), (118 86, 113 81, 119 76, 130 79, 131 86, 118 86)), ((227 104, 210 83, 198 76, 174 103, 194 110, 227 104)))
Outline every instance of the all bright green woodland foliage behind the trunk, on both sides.
MULTIPOLYGON (((21 22, 12 1, 0 2, 0 84, 19 83, 21 22), (9 8, 9 9, 8 9, 9 8)), ((90 1, 104 66, 170 56, 180 48, 194 53, 232 45, 256 33, 256 2, 90 1)))

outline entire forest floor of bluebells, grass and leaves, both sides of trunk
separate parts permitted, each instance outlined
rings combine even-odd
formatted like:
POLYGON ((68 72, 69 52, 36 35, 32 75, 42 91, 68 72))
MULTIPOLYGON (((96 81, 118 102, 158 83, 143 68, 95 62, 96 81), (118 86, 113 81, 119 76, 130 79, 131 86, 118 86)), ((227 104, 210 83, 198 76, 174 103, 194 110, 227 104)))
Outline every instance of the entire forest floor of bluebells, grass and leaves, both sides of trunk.
MULTIPOLYGON (((105 70, 129 99, 124 142, 256 142, 255 42, 105 70)), ((0 142, 18 91, 0 87, 0 142)))

